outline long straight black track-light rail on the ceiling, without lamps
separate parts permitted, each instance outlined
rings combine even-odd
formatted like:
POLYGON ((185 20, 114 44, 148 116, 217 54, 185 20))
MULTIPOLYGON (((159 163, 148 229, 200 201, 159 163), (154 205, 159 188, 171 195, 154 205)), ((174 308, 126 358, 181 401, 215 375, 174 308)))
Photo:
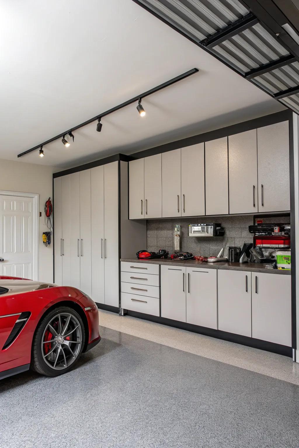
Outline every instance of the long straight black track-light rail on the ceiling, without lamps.
POLYGON ((40 143, 39 145, 34 146, 33 148, 27 149, 26 151, 21 152, 21 154, 18 154, 18 157, 22 157, 22 155, 28 154, 29 152, 35 151, 36 149, 39 149, 41 146, 48 145, 48 143, 54 142, 55 140, 58 140, 58 138, 63 137, 64 135, 68 134, 69 132, 74 132, 77 129, 82 128, 83 126, 89 125, 93 121, 96 121, 98 118, 103 118, 104 116, 107 116, 111 114, 112 112, 116 112, 119 109, 122 109, 126 106, 129 106, 129 104, 135 103, 139 100, 139 98, 145 98, 148 95, 152 95, 152 93, 158 92, 159 90, 165 89, 165 87, 171 86, 175 82, 181 81, 182 79, 188 78, 188 76, 193 75, 194 73, 197 73, 198 69, 191 69, 188 70, 185 73, 182 73, 181 75, 176 76, 175 78, 169 79, 169 81, 163 82, 163 84, 160 84, 159 86, 153 87, 150 90, 147 90, 146 92, 141 93, 140 95, 135 96, 134 98, 128 99, 124 103, 119 104, 118 106, 115 106, 114 108, 108 109, 105 112, 102 112, 90 120, 84 121, 84 123, 81 123, 80 125, 74 126, 67 131, 62 132, 59 135, 56 135, 55 137, 49 138, 46 142, 40 143))

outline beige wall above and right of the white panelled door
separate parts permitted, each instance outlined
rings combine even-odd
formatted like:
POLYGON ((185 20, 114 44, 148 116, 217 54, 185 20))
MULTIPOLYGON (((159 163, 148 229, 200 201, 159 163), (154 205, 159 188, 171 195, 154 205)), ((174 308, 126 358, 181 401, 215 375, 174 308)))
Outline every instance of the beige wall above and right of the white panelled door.
POLYGON ((54 167, 26 164, 0 159, 0 190, 39 194, 39 280, 53 281, 53 244, 43 245, 42 234, 47 231, 44 219, 44 204, 51 196, 54 167))

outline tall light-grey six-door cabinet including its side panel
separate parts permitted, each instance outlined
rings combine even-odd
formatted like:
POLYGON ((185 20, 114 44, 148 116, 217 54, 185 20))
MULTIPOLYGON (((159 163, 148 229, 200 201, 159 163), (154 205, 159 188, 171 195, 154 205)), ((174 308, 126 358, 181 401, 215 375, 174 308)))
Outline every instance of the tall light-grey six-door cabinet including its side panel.
POLYGON ((128 219, 127 186, 128 164, 119 160, 54 178, 54 281, 114 307, 119 259, 146 241, 146 225, 128 219))

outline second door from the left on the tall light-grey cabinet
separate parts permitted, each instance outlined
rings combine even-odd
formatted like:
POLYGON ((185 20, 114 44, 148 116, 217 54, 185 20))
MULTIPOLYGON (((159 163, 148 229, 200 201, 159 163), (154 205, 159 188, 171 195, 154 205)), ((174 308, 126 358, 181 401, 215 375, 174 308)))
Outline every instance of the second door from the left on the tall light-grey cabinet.
POLYGON ((61 177, 61 216, 62 216, 62 284, 71 285, 71 254, 70 254, 70 174, 61 177))

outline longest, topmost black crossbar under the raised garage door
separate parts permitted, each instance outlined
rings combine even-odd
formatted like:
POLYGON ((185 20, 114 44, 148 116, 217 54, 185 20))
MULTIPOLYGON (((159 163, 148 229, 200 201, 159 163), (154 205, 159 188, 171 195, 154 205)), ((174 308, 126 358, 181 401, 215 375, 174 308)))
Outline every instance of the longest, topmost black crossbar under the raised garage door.
POLYGON ((217 33, 211 34, 206 39, 202 40, 200 42, 200 45, 203 45, 204 47, 207 48, 215 47, 216 45, 219 45, 219 43, 222 43, 225 40, 230 39, 236 34, 242 33, 242 31, 247 30, 247 28, 250 28, 251 26, 254 26, 257 23, 258 18, 254 14, 248 13, 245 17, 236 20, 235 22, 231 23, 225 28, 222 28, 221 30, 217 31, 217 33))

